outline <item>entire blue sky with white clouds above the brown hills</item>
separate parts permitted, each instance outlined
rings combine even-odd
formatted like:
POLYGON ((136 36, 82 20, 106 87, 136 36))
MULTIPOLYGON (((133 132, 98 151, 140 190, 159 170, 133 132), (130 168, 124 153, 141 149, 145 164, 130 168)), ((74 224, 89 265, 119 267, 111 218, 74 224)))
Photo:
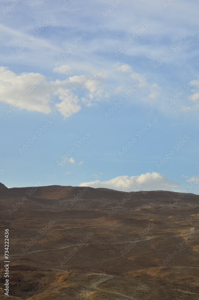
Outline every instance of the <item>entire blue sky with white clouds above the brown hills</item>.
POLYGON ((199 194, 197 0, 2 0, 0 182, 199 194))

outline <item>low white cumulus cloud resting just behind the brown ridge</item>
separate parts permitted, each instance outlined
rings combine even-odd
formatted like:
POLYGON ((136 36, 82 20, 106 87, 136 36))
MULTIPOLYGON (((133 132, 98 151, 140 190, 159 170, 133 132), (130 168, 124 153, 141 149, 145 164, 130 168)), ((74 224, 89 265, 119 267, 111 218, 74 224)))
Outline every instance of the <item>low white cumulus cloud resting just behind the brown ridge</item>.
POLYGON ((139 176, 118 176, 108 181, 82 182, 79 186, 105 187, 113 190, 130 192, 140 186, 139 190, 172 190, 180 186, 177 181, 168 179, 166 176, 153 172, 139 176))

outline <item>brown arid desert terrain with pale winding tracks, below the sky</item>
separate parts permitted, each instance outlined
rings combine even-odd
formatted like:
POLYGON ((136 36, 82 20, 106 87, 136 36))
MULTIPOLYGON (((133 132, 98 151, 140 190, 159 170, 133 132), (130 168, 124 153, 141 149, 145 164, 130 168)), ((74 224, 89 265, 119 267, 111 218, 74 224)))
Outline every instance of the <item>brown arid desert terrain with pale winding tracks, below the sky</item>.
POLYGON ((198 220, 191 193, 0 184, 0 299, 198 300, 198 220))

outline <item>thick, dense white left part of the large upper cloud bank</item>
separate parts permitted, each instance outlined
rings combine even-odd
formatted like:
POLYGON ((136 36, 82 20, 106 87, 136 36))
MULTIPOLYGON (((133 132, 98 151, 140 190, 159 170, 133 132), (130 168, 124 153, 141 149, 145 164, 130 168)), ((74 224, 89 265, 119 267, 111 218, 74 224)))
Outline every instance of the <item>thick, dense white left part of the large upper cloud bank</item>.
MULTIPOLYGON (((57 79, 47 82, 46 77, 40 73, 16 74, 2 66, 0 67, 0 101, 14 108, 41 113, 58 110, 64 117, 69 117, 81 109, 84 98, 82 99, 76 90, 84 87, 88 79, 90 76, 76 75, 63 81, 57 79)), ((88 86, 87 101, 95 101, 98 84, 100 82, 96 81, 88 86), (94 84, 93 89, 91 86, 94 84)), ((10 110, 10 107, 7 110, 10 110)), ((7 114, 9 115, 9 112, 7 114)))

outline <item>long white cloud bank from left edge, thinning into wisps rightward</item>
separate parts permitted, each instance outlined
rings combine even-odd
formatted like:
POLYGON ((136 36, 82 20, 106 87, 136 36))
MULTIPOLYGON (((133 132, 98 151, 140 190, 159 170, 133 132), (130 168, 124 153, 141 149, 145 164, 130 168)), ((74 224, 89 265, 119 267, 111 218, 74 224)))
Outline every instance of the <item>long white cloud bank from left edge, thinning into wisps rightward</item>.
MULTIPOLYGON (((54 70, 67 73, 70 66, 63 65, 54 70)), ((65 80, 48 81, 40 73, 16 74, 7 67, 0 67, 0 101, 12 106, 7 114, 14 107, 41 113, 57 110, 68 118, 82 107, 128 91, 132 88, 132 78, 139 87, 139 93, 150 92, 151 98, 157 95, 157 84, 150 84, 145 75, 132 72, 128 64, 116 64, 110 70, 92 73, 91 76, 75 75, 65 80), (116 86, 119 88, 116 89, 116 86)))

